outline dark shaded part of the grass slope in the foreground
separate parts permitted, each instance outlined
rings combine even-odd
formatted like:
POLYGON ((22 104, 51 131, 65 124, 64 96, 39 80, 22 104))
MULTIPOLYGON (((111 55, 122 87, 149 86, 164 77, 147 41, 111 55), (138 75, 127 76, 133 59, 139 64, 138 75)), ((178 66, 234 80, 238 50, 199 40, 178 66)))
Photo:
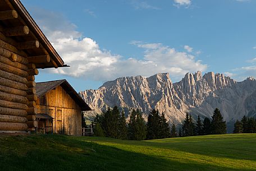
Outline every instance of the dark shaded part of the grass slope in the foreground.
POLYGON ((68 136, 28 136, 0 138, 0 170, 243 169, 164 159, 68 136))

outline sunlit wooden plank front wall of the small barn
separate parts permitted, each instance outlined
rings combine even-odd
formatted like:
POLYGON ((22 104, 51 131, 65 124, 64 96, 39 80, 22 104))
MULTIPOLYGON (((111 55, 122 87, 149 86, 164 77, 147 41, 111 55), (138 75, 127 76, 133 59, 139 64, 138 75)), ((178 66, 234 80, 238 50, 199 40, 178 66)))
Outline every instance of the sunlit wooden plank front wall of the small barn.
MULTIPOLYGON (((61 86, 49 91, 43 98, 36 101, 36 108, 38 113, 53 118, 53 133, 81 135, 81 108, 61 86)), ((50 128, 47 131, 51 131, 50 128)))

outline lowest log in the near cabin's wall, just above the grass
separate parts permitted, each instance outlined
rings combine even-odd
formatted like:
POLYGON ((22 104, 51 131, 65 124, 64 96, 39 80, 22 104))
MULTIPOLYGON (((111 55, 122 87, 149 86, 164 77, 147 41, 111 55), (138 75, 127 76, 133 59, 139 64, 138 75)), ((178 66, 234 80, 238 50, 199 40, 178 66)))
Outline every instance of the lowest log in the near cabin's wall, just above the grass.
POLYGON ((26 131, 26 130, 28 130, 28 125, 26 123, 0 122, 0 130, 3 130, 3 131, 26 131))

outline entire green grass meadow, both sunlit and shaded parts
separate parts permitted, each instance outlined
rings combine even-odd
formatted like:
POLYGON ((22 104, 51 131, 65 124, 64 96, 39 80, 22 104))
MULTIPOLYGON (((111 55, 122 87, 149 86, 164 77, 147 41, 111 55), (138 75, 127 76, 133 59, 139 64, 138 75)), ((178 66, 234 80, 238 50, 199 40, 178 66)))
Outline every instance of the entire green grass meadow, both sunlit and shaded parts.
POLYGON ((152 141, 0 136, 0 170, 256 170, 256 134, 152 141))

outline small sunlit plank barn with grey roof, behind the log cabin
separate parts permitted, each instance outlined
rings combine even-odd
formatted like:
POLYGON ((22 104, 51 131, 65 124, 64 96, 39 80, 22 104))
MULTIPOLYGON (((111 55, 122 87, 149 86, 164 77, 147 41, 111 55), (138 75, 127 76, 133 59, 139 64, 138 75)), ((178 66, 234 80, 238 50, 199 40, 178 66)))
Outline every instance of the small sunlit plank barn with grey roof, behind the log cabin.
POLYGON ((82 111, 92 110, 66 80, 36 83, 38 132, 81 135, 82 111))

